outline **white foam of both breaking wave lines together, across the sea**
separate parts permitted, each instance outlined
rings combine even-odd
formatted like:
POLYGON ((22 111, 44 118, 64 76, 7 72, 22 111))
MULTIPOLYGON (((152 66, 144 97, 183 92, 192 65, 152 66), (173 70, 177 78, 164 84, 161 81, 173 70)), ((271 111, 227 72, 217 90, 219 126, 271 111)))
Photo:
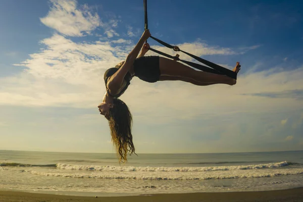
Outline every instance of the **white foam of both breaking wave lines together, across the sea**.
POLYGON ((140 180, 208 180, 233 178, 263 178, 303 174, 303 168, 294 168, 291 163, 278 162, 261 165, 220 167, 132 167, 132 166, 83 166, 58 164, 54 170, 27 171, 35 175, 140 180))

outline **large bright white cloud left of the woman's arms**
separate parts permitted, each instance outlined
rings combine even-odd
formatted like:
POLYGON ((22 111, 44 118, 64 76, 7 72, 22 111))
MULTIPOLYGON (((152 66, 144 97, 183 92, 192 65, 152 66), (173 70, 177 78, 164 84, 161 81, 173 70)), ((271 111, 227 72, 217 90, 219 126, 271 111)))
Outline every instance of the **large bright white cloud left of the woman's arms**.
POLYGON ((70 84, 93 85, 102 71, 119 61, 114 53, 125 55, 125 51, 120 51, 119 46, 112 47, 110 42, 75 43, 58 34, 41 43, 45 49, 16 65, 27 67, 27 72, 37 79, 61 79, 70 84))

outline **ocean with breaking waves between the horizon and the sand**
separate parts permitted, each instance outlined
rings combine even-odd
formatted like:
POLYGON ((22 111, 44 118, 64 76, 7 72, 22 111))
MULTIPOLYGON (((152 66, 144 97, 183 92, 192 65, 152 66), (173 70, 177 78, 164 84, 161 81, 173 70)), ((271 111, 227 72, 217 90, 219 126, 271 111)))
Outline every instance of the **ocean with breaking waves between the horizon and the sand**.
POLYGON ((82 196, 279 190, 303 186, 303 151, 115 154, 0 150, 0 189, 82 196))

